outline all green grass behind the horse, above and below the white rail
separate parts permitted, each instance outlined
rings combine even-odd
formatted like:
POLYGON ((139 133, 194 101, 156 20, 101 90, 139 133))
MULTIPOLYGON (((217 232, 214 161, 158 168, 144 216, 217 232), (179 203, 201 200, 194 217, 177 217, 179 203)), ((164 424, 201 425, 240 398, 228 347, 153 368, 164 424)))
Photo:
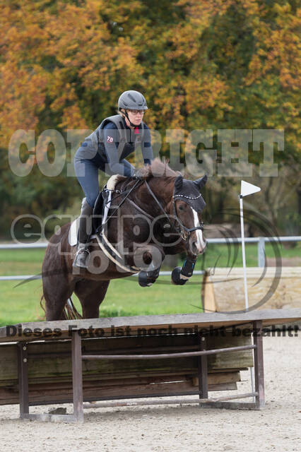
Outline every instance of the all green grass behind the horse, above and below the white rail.
MULTIPOLYGON (((225 267, 232 265, 234 247, 228 250, 223 245, 210 244, 203 258, 199 257, 196 269, 225 267)), ((234 266, 242 266, 241 248, 237 248, 234 266)), ((295 248, 280 248, 285 258, 300 257, 301 244, 295 248)), ((41 272, 44 249, 0 250, 0 275, 33 275, 41 272)), ((246 246, 247 266, 257 266, 257 246, 246 246)), ((266 244, 267 257, 274 257, 270 244, 266 244)), ((181 261, 179 261, 179 265, 181 261)), ((152 287, 140 287, 137 278, 112 280, 105 301, 100 307, 101 316, 131 316, 147 314, 181 314, 201 310, 201 279, 195 275, 183 287, 170 283, 170 276, 160 277, 152 287)), ((40 308, 42 295, 41 280, 25 284, 20 281, 0 281, 0 326, 26 321, 42 320, 44 311, 40 308)), ((73 301, 79 309, 76 297, 73 301)))

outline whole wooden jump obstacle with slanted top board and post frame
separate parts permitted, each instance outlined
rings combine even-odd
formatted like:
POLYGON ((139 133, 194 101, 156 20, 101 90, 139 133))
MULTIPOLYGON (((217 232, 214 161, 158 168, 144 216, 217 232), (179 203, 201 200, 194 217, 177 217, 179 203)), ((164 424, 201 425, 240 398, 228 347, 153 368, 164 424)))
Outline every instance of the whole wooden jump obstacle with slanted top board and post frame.
POLYGON ((121 405, 258 410, 264 407, 262 328, 300 319, 301 309, 278 309, 2 327, 0 405, 19 403, 20 418, 54 422, 83 422, 84 409, 121 405), (240 370, 253 365, 254 392, 208 398, 208 391, 237 389, 240 370), (196 398, 151 400, 175 396, 196 398), (230 401, 250 397, 255 401, 230 401), (73 415, 30 413, 30 406, 57 403, 73 403, 73 415))

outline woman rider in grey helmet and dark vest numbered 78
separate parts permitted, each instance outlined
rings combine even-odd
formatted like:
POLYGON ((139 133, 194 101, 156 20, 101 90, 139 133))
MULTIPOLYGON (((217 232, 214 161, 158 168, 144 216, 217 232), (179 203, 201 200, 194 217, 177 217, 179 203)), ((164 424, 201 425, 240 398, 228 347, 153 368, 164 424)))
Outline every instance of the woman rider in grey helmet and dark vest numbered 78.
POLYGON ((124 91, 118 100, 119 114, 105 118, 76 151, 74 167, 85 198, 81 206, 78 246, 73 266, 86 268, 93 207, 99 194, 98 169, 110 175, 134 176, 135 168, 125 158, 140 144, 144 164, 149 165, 153 160, 151 133, 142 121, 147 109, 146 100, 141 93, 124 91))

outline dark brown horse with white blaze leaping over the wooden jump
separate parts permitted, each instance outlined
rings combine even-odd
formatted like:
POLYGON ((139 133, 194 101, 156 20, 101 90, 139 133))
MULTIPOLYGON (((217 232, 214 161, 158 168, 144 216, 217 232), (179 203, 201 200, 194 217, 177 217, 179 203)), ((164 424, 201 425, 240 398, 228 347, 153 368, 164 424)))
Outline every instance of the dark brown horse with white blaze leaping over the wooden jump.
POLYGON ((173 283, 183 285, 191 277, 206 246, 201 218, 206 203, 200 194, 206 175, 188 181, 159 159, 138 174, 117 178, 105 225, 98 225, 90 239, 87 268, 72 266, 76 246, 69 243, 71 223, 49 239, 42 263, 47 321, 68 318, 73 292, 82 318, 98 318, 110 280, 140 272, 139 284, 149 286, 167 254, 187 254, 182 268, 172 272, 173 283))

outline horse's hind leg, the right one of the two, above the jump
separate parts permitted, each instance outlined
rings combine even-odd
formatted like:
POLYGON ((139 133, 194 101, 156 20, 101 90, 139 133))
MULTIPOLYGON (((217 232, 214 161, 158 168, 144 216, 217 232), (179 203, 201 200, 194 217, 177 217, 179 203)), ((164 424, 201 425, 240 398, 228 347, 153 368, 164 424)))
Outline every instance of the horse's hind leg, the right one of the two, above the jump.
POLYGON ((110 281, 87 281, 76 283, 74 292, 81 302, 83 319, 98 319, 100 304, 105 298, 110 281))

